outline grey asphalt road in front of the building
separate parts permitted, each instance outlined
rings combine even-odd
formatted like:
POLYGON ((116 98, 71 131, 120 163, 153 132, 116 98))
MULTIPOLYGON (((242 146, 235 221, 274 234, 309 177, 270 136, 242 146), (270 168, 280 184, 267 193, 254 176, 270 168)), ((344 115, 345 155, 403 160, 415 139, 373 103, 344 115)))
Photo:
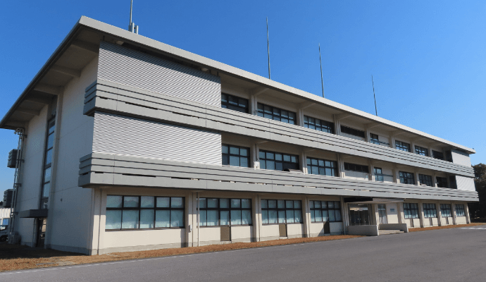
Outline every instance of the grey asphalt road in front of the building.
POLYGON ((486 281, 486 228, 11 271, 0 281, 486 281))

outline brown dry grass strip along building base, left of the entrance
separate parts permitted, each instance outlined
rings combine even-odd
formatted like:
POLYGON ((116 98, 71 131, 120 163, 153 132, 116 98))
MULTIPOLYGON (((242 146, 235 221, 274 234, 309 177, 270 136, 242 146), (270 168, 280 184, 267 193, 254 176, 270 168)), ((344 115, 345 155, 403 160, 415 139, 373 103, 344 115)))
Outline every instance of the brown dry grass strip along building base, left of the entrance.
POLYGON ((128 259, 143 259, 148 257, 166 257, 173 255, 187 255, 201 252, 219 252, 225 250, 248 249, 252 247, 268 247, 276 245, 290 245, 298 243, 340 240, 358 238, 357 235, 331 235, 313 238, 293 238, 269 240, 254 243, 232 243, 223 245, 208 245, 202 247, 181 247, 173 249, 149 250, 138 252, 113 252, 107 255, 80 255, 73 252, 36 249, 20 245, 0 245, 0 271, 20 269, 37 269, 52 266, 66 266, 73 264, 93 264, 98 262, 114 262, 128 259))

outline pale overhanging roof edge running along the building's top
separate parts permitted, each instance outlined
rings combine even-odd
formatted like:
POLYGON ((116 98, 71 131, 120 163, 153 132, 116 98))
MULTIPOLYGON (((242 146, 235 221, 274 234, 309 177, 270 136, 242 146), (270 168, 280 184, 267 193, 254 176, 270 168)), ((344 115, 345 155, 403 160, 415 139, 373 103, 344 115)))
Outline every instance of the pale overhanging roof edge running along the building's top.
POLYGON ((379 123, 382 125, 387 125, 391 128, 396 128, 397 130, 403 130, 407 133, 412 133, 414 135, 419 135, 421 137, 428 138, 430 140, 434 140, 435 142, 443 143, 444 145, 449 145, 456 149, 462 149, 469 154, 474 154, 475 150, 465 147, 463 145, 456 144, 454 142, 450 142, 448 140, 442 139, 440 137, 436 137, 434 135, 430 135, 428 133, 424 133, 420 130, 416 130, 413 128, 409 128, 408 126, 401 125, 399 123, 395 123, 394 121, 389 121, 385 118, 380 118, 379 116, 374 116, 373 114, 368 114, 364 111, 360 111, 358 109, 351 108, 350 106, 346 106, 343 104, 339 104, 337 102, 331 101, 329 99, 325 99, 323 97, 319 97, 316 94, 311 94, 309 92, 305 92, 303 90, 299 90, 294 87, 290 87, 289 85, 282 84, 280 82, 276 82, 270 80, 268 78, 264 78, 263 76, 256 75, 254 73, 249 73, 247 71, 243 71, 239 68, 235 68, 233 66, 229 66, 225 63, 220 63, 218 61, 214 61, 208 59, 204 56, 199 56, 197 54, 193 54, 189 51, 185 51, 168 44, 164 44, 162 42, 158 42, 154 39, 150 39, 148 37, 144 37, 142 35, 137 35, 135 33, 129 32, 127 30, 123 30, 120 27, 115 27, 113 25, 108 25, 107 23, 102 23, 99 20, 94 20, 92 18, 87 18, 82 16, 80 20, 77 21, 73 29, 68 33, 63 42, 57 47, 56 51, 51 55, 51 57, 46 61, 44 66, 41 68, 39 73, 35 75, 35 78, 30 82, 29 85, 25 88, 24 92, 20 94, 20 97, 15 101, 11 109, 8 110, 7 114, 2 118, 0 121, 0 128, 8 128, 13 129, 13 126, 7 125, 8 119, 11 115, 15 112, 18 108, 20 103, 23 102, 26 95, 29 94, 31 90, 34 89, 35 85, 39 80, 45 75, 49 68, 54 64, 56 59, 58 59, 63 51, 69 47, 70 44, 73 43, 78 31, 82 28, 88 28, 90 30, 95 30, 97 33, 103 35, 110 35, 112 37, 116 37, 117 39, 127 42, 130 44, 135 44, 137 47, 151 49, 152 51, 156 51, 157 53, 163 54, 164 56, 169 56, 174 59, 179 59, 185 61, 187 63, 192 63, 194 65, 200 66, 201 68, 208 68, 213 71, 218 71, 219 73, 224 73, 226 75, 230 75, 235 78, 239 78, 242 80, 247 80, 249 82, 253 82, 256 85, 260 85, 261 87, 266 87, 269 89, 277 90, 279 92, 284 92, 286 94, 293 95, 295 97, 299 97, 301 99, 306 99, 309 102, 313 102, 316 104, 323 104, 328 106, 332 109, 337 109, 339 111, 343 111, 344 113, 351 114, 354 116, 359 116, 361 118, 365 118, 366 120, 370 121, 370 123, 379 123))

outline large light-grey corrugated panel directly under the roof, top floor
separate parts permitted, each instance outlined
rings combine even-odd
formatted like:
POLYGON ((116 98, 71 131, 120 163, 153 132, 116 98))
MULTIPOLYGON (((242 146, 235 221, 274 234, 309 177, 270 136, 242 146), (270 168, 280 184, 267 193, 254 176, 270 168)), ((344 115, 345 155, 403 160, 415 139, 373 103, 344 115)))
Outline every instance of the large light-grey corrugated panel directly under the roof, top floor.
POLYGON ((102 41, 98 78, 189 101, 220 106, 216 75, 102 41))

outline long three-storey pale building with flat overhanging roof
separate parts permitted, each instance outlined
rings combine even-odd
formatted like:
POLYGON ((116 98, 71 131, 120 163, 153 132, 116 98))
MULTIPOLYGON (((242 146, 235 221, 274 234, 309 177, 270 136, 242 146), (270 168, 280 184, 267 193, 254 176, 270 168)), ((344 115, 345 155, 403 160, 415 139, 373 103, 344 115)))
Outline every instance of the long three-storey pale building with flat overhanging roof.
POLYGON ((475 151, 82 17, 0 123, 11 237, 89 255, 469 223, 475 151))

